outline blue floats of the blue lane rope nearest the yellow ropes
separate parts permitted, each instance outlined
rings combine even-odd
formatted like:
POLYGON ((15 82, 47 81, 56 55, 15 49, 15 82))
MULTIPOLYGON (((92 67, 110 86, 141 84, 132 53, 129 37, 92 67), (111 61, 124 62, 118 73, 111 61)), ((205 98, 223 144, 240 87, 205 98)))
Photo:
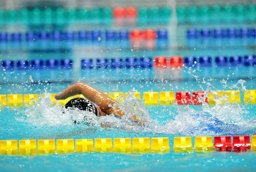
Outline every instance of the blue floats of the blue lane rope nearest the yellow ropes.
MULTIPOLYGON (((153 66, 152 57, 127 57, 123 58, 97 58, 94 61, 92 58, 84 58, 81 60, 81 69, 96 68, 151 68, 153 66)), ((212 66, 212 57, 210 56, 187 56, 183 57, 184 66, 212 66)), ((242 56, 217 56, 215 57, 215 66, 256 66, 256 55, 242 56)), ((17 69, 72 69, 73 60, 71 59, 48 59, 44 60, 17 60, 17 69)), ((2 60, 2 68, 5 70, 15 69, 14 60, 2 60)))

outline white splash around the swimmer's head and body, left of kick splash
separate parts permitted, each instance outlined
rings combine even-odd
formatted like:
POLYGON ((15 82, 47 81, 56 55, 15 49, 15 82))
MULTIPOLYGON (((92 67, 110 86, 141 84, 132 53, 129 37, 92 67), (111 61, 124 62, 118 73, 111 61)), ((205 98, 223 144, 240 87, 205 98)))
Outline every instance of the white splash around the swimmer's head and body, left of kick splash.
MULTIPOLYGON (((27 106, 23 116, 16 117, 17 120, 32 123, 34 126, 66 126, 76 123, 84 123, 89 126, 104 126, 118 129, 125 129, 129 131, 141 131, 148 128, 150 124, 150 115, 148 110, 143 105, 143 100, 137 100, 134 97, 133 90, 128 97, 119 100, 121 109, 125 111, 125 116, 122 119, 108 115, 104 117, 97 117, 92 112, 85 112, 74 108, 64 108, 56 103, 54 106, 51 102, 51 95, 45 92, 44 97, 39 98, 38 103, 34 102, 34 106, 27 106), (131 107, 131 108, 129 108, 131 107), (127 108, 127 109, 126 109, 127 108), (141 119, 143 122, 134 123, 131 119, 141 119)), ((123 98, 123 97, 120 97, 123 98)), ((20 112, 19 112, 20 113, 20 112)))

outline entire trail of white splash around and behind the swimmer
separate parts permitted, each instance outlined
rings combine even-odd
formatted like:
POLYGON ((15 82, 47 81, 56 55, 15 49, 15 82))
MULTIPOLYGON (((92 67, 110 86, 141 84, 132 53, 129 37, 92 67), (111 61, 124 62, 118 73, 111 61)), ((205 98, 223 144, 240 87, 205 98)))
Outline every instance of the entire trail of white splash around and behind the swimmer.
MULTIPOLYGON (((44 97, 35 103, 34 106, 28 106, 23 112, 23 117, 17 117, 17 120, 32 123, 35 126, 66 126, 76 123, 86 124, 88 126, 103 126, 127 131, 143 131, 170 133, 178 135, 235 135, 243 131, 255 129, 255 119, 244 119, 243 115, 248 114, 244 106, 233 103, 218 104, 209 106, 203 103, 200 110, 195 110, 193 106, 164 106, 168 109, 176 108, 172 112, 174 119, 166 120, 165 125, 159 121, 152 120, 148 109, 144 105, 144 100, 138 100, 134 97, 135 89, 129 92, 127 97, 119 97, 121 109, 125 111, 122 119, 114 115, 97 117, 93 113, 80 111, 79 109, 53 106, 50 101, 51 95, 45 92, 44 97), (132 119, 140 119, 140 123, 134 123, 132 119)), ((255 118, 255 115, 254 117, 255 118)))

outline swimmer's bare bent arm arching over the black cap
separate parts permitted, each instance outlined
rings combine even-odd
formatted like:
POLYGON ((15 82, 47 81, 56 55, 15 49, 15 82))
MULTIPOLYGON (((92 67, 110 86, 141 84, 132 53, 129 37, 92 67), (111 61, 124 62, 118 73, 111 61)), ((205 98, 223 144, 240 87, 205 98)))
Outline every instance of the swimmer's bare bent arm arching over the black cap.
POLYGON ((116 100, 113 100, 108 95, 105 95, 104 92, 101 92, 100 90, 93 88, 86 83, 75 83, 65 89, 63 92, 55 95, 55 98, 57 100, 60 100, 80 94, 84 95, 84 97, 86 97, 93 103, 96 103, 99 108, 107 115, 113 114, 118 117, 122 117, 124 115, 124 113, 120 110, 116 100))

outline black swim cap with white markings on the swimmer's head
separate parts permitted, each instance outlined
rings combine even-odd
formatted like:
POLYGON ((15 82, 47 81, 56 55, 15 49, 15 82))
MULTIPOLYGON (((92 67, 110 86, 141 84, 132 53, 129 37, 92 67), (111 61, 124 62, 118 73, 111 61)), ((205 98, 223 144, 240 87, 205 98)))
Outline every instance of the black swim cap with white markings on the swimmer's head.
POLYGON ((96 116, 99 116, 99 112, 96 106, 86 98, 73 98, 65 104, 66 109, 67 107, 76 107, 80 110, 93 112, 96 116))

